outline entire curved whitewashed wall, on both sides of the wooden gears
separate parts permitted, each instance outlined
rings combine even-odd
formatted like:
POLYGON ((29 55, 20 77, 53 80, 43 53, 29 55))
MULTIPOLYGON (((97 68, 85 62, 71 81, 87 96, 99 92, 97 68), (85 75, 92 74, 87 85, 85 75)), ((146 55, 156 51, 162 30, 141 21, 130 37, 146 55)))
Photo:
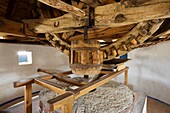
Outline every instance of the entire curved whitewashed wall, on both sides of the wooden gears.
MULTIPOLYGON (((133 89, 170 104, 170 42, 130 52, 127 62, 133 89)), ((23 95, 13 81, 40 76, 37 68, 68 70, 68 57, 51 47, 0 44, 0 104, 23 95), (18 51, 32 51, 33 64, 18 65, 18 51)), ((122 81, 122 76, 116 80, 122 81)), ((40 87, 34 87, 34 91, 40 87)))

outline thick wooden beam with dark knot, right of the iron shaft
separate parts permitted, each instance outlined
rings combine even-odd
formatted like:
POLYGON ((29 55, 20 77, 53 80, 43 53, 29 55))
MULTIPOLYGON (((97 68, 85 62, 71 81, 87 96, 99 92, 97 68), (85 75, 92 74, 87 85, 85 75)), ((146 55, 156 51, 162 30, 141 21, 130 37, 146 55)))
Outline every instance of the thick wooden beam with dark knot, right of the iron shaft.
POLYGON ((134 4, 130 0, 95 8, 96 27, 119 27, 142 21, 169 18, 169 0, 149 0, 134 4), (107 12, 107 13, 106 13, 107 12))

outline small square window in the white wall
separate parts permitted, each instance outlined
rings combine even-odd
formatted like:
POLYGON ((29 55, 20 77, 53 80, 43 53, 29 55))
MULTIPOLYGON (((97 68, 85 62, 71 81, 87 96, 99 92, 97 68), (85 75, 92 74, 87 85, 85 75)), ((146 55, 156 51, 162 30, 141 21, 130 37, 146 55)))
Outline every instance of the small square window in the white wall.
POLYGON ((19 65, 32 64, 32 52, 19 51, 18 52, 18 64, 19 65))

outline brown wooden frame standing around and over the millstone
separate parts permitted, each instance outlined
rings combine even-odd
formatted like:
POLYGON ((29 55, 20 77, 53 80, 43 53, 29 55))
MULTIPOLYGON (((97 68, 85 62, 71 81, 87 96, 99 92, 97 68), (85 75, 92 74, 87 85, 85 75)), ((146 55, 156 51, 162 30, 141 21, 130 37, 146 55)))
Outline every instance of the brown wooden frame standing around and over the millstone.
MULTIPOLYGON (((44 86, 56 93, 61 94, 58 97, 50 99, 48 101, 48 104, 50 106, 50 111, 54 111, 57 110, 58 108, 62 108, 63 113, 72 113, 72 106, 74 100, 85 95, 89 91, 107 83, 108 81, 112 80, 113 78, 115 78, 121 73, 124 73, 124 84, 128 85, 128 67, 117 72, 101 71, 101 73, 104 73, 105 76, 95 81, 89 82, 88 84, 83 85, 72 91, 65 91, 63 87, 58 86, 57 84, 54 84, 50 81, 47 81, 55 78, 54 77, 55 75, 47 75, 38 78, 16 81, 14 82, 14 87, 16 88, 16 87, 25 86, 25 93, 24 93, 25 113, 32 113, 32 84, 33 83, 44 86)), ((63 74, 59 73, 58 75, 63 75, 63 74)))

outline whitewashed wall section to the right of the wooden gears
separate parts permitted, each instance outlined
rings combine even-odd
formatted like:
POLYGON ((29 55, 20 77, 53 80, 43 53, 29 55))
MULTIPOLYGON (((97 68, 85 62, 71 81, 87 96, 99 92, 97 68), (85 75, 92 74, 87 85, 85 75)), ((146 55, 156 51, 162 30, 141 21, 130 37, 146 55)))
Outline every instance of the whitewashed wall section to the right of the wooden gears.
POLYGON ((170 104, 170 42, 133 50, 128 57, 133 89, 170 104))

